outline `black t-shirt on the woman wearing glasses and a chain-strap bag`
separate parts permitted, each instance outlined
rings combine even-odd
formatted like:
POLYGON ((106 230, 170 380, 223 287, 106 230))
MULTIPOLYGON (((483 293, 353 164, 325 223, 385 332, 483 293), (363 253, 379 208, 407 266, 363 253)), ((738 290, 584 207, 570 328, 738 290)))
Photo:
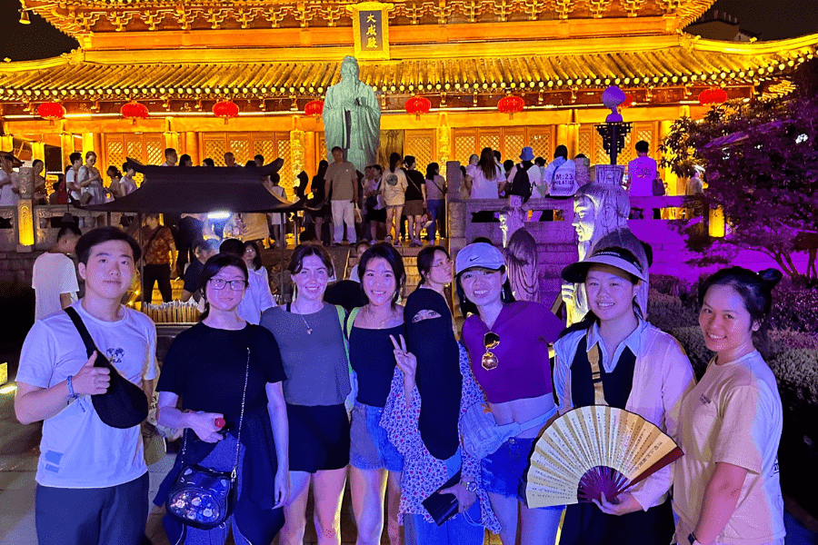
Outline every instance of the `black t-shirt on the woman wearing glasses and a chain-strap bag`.
POLYGON ((263 410, 267 404, 264 386, 287 377, 273 333, 249 323, 243 330, 228 331, 200 322, 179 333, 165 356, 156 390, 181 397, 182 409, 238 419, 248 347, 250 373, 244 410, 263 410))

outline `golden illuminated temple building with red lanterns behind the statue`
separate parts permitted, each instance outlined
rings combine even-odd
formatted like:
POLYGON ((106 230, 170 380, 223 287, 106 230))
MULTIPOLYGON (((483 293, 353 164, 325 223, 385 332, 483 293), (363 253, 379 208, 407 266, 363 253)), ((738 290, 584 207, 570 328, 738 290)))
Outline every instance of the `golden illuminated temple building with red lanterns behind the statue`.
POLYGON ((239 164, 281 156, 291 186, 325 156, 320 101, 354 54, 381 104, 382 159, 412 154, 423 168, 465 162, 484 146, 516 159, 524 145, 549 159, 565 144, 607 163, 594 124, 610 113, 601 95, 616 84, 632 103, 625 163, 637 140, 655 156, 673 120, 702 115, 703 91, 780 92, 815 54, 818 35, 730 43, 686 34, 713 2, 24 0, 24 18, 44 16, 81 47, 0 64, 0 149, 47 155, 49 170, 95 150, 103 172, 126 156, 162 163, 165 147, 195 164, 223 164, 228 151, 239 164))

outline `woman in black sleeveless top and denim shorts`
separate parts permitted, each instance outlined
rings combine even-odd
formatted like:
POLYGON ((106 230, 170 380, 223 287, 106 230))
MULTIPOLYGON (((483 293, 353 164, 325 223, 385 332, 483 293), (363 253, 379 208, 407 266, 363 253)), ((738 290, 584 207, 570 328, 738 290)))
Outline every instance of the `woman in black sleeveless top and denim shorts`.
POLYGON ((358 276, 368 303, 347 318, 349 359, 358 379, 350 433, 350 485, 358 545, 377 545, 384 529, 384 484, 387 533, 400 542, 398 507, 404 458, 380 427, 394 375, 395 339, 404 334, 404 307, 397 304, 406 280, 401 254, 392 244, 375 244, 361 256, 358 276))

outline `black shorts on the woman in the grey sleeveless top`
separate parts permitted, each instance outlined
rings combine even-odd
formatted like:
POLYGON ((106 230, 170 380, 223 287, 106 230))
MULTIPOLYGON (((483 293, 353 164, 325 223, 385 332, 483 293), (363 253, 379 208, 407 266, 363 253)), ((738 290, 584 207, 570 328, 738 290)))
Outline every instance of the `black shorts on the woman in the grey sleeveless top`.
POLYGON ((349 417, 341 405, 291 405, 290 471, 340 470, 349 464, 349 417))

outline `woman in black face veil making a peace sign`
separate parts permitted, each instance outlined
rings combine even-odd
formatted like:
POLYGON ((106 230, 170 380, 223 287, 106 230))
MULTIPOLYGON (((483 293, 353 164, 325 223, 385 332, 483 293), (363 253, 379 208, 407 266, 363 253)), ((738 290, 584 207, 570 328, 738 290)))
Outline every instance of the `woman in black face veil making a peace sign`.
POLYGON ((392 338, 394 371, 381 426, 404 456, 400 516, 406 545, 481 545, 500 529, 480 461, 461 448, 460 420, 483 400, 468 355, 454 339, 452 313, 433 290, 415 290, 404 308, 406 337, 392 338), (446 486, 447 481, 452 481, 446 486), (438 526, 424 500, 454 494, 457 513, 438 526))

